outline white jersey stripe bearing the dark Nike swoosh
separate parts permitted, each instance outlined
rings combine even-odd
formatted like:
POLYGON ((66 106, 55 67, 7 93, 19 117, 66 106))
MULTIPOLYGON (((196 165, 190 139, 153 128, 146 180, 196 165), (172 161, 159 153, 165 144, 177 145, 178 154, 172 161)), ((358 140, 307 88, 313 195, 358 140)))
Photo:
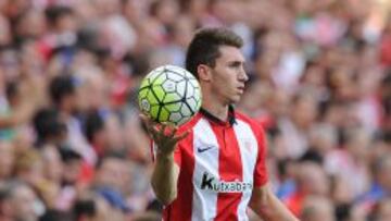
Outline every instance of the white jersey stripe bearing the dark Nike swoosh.
POLYGON ((218 143, 207 121, 201 119, 193 127, 193 198, 191 220, 213 220, 217 211, 217 193, 201 189, 204 172, 219 179, 218 175, 218 143), (199 148, 209 148, 199 152, 199 148))

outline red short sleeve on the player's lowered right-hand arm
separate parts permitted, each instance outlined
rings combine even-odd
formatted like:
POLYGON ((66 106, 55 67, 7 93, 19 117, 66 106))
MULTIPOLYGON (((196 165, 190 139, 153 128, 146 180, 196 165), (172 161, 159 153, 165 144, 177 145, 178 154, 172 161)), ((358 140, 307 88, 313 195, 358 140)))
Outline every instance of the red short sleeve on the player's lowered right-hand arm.
POLYGON ((254 132, 256 134, 256 140, 257 140, 257 157, 256 157, 256 163, 254 169, 254 186, 260 187, 267 183, 268 176, 267 176, 267 170, 266 170, 266 155, 267 155, 267 146, 266 146, 266 136, 264 130, 256 125, 254 126, 254 132))

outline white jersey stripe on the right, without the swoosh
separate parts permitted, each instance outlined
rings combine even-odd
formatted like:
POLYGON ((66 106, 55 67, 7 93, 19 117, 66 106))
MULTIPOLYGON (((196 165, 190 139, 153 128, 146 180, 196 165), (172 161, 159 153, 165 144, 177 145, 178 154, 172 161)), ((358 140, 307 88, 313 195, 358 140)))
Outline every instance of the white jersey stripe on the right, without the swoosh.
MULTIPOLYGON (((243 121, 237 120, 237 124, 234 125, 236 137, 238 138, 242 169, 243 169, 243 182, 253 184, 254 182, 254 168, 257 156, 257 142, 256 137, 251 130, 250 125, 243 121)), ((242 199, 238 206, 238 220, 249 220, 247 216, 247 207, 251 198, 252 192, 243 192, 242 199)))

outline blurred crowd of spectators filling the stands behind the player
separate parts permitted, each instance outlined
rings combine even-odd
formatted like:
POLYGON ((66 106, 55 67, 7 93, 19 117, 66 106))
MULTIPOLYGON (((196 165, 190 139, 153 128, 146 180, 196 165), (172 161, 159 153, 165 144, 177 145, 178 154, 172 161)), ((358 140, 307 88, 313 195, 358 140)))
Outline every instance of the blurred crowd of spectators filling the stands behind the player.
MULTIPOLYGON (((302 221, 391 220, 389 0, 0 0, 0 220, 159 220, 140 79, 244 39, 237 109, 302 221)), ((255 217, 252 220, 257 220, 255 217)))

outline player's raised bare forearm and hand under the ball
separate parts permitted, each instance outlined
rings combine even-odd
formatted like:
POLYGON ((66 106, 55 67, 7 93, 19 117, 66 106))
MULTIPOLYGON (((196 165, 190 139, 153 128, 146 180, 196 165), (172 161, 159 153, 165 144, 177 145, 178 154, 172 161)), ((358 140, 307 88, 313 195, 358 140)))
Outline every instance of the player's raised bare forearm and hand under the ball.
POLYGON ((151 122, 147 116, 141 115, 141 119, 157 147, 151 179, 152 188, 161 202, 169 205, 177 196, 179 176, 179 167, 174 161, 174 150, 177 143, 188 133, 176 135, 177 127, 163 124, 157 128, 156 123, 151 122))

